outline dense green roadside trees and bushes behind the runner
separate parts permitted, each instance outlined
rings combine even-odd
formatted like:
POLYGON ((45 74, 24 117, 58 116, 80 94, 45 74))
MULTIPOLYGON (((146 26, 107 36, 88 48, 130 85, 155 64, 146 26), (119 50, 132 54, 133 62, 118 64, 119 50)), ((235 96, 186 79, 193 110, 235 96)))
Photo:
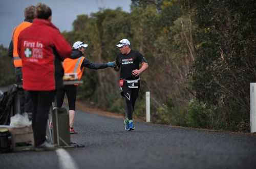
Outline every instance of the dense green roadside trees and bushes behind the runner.
MULTIPOLYGON (((150 91, 154 122, 247 131, 255 23, 253 0, 132 0, 130 13, 117 8, 79 15, 63 35, 71 44, 88 43, 92 62, 114 61, 122 38, 143 53, 150 67, 141 75, 136 116, 144 117, 144 93, 150 91)), ((0 64, 2 82, 8 77, 2 72, 10 70, 0 64)), ((86 69, 79 98, 124 113, 118 77, 111 68, 86 69)))

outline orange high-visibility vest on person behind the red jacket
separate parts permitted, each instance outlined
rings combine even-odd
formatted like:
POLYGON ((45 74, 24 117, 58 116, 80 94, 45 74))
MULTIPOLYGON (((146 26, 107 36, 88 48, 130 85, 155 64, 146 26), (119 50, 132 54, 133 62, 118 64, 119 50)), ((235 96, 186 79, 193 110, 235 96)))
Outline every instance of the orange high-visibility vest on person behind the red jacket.
POLYGON ((20 23, 13 30, 12 42, 13 42, 13 64, 14 67, 22 67, 22 59, 18 56, 18 36, 26 27, 30 26, 32 23, 24 21, 20 23))

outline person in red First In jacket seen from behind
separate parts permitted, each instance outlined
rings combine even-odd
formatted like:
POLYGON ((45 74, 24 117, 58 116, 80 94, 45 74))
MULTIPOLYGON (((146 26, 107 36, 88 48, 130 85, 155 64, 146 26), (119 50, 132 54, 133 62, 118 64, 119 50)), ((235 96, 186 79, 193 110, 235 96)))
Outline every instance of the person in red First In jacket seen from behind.
POLYGON ((35 150, 52 150, 46 142, 46 126, 55 91, 62 87, 61 61, 71 55, 71 46, 51 23, 52 11, 45 4, 36 5, 33 24, 18 37, 18 55, 23 62, 23 88, 33 102, 32 128, 35 150))

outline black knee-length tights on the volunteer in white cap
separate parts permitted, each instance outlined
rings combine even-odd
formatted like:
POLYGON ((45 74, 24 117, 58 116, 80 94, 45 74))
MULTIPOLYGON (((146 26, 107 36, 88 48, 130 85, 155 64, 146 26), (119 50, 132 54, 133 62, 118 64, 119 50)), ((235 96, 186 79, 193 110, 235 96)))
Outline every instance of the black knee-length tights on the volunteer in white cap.
POLYGON ((63 88, 57 90, 57 107, 60 108, 63 104, 65 94, 67 94, 69 102, 69 110, 76 110, 76 91, 77 86, 65 85, 63 88))

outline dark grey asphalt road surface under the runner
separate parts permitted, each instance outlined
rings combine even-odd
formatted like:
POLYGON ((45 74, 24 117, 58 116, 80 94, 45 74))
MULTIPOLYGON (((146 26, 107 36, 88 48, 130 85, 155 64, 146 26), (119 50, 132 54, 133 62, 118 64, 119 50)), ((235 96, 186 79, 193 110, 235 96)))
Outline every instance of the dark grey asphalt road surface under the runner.
POLYGON ((0 168, 256 168, 256 135, 135 123, 77 111, 83 148, 0 154, 0 168))

